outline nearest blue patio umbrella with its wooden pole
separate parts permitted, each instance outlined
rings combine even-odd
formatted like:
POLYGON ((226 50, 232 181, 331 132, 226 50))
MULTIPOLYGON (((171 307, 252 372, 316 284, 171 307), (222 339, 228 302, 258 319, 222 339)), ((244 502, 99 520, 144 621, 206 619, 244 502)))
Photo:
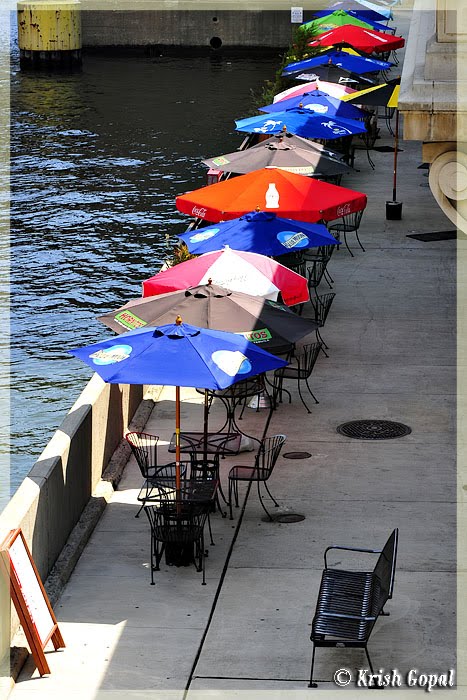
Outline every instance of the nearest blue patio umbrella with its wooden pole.
POLYGON ((176 387, 176 487, 180 488, 180 387, 225 389, 285 367, 243 335, 198 328, 177 317, 174 324, 138 328, 69 351, 110 384, 163 384, 176 387))

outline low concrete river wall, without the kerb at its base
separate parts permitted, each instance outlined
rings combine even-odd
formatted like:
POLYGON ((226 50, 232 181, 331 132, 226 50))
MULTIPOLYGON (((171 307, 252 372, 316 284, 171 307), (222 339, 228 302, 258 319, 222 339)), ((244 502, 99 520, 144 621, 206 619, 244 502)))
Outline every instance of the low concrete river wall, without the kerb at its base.
MULTIPOLYGON (((94 375, 0 514, 0 542, 11 529, 20 527, 43 581, 93 499, 142 402, 143 390, 142 386, 105 384, 94 375)), ((14 611, 4 614, 9 608, 8 590, 0 587, 0 595, 0 659, 9 662, 18 620, 14 611)))

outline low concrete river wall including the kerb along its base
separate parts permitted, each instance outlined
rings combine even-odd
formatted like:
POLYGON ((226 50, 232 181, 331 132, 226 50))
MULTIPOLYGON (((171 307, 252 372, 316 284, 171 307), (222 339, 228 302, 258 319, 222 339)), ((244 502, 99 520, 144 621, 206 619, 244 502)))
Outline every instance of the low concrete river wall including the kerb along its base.
MULTIPOLYGON (((22 529, 42 580, 49 577, 52 604, 129 457, 122 436, 131 421, 136 428, 144 425, 152 409, 151 399, 143 401, 144 390, 105 384, 94 375, 0 514, 0 542, 11 529, 22 529)), ((10 644, 19 621, 14 609, 8 615, 9 592, 3 580, 0 597, 4 669, 10 665, 10 644)))

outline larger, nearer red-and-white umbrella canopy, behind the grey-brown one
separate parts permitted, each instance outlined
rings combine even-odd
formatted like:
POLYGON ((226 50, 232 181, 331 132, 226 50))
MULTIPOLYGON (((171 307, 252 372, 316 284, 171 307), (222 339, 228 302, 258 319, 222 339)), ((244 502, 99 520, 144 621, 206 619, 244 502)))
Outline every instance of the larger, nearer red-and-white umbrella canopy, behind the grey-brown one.
POLYGON ((303 304, 310 298, 305 277, 265 255, 232 250, 228 246, 158 272, 143 282, 143 296, 188 289, 206 284, 209 279, 221 287, 273 301, 281 292, 287 306, 303 304))

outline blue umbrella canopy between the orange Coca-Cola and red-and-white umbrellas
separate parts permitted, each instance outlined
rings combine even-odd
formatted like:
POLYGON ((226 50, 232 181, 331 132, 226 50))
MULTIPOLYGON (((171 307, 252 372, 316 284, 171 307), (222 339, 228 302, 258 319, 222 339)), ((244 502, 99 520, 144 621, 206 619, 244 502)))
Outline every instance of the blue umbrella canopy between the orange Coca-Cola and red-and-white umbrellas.
POLYGON ((322 224, 283 219, 273 212, 264 211, 252 211, 238 219, 187 231, 180 238, 188 250, 196 254, 235 245, 237 250, 278 256, 338 243, 322 224))

